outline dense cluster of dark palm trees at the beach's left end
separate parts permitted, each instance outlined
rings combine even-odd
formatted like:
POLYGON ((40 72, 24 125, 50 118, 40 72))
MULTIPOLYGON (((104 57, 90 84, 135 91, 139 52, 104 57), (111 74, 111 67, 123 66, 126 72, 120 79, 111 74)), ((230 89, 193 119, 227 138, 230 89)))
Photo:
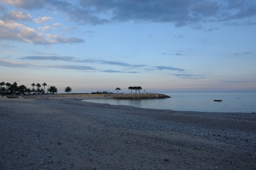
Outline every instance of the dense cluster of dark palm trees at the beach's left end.
MULTIPOLYGON (((13 84, 11 83, 4 83, 1 82, 0 83, 0 93, 1 95, 35 95, 35 94, 45 94, 45 87, 47 86, 46 83, 42 83, 39 84, 35 84, 32 83, 31 84, 32 89, 27 88, 25 85, 20 85, 18 86, 18 84, 16 82, 14 82, 13 84), (36 87, 36 89, 35 89, 36 87)), ((55 86, 47 86, 47 91, 50 92, 50 94, 55 94, 55 92, 58 91, 58 89, 55 86)))

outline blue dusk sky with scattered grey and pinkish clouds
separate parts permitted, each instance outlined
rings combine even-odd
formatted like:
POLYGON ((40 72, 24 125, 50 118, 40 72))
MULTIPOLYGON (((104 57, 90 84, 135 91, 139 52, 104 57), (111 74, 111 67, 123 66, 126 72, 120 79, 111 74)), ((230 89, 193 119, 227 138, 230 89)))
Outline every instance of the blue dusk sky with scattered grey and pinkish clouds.
POLYGON ((256 91, 255 0, 0 0, 0 81, 256 91))

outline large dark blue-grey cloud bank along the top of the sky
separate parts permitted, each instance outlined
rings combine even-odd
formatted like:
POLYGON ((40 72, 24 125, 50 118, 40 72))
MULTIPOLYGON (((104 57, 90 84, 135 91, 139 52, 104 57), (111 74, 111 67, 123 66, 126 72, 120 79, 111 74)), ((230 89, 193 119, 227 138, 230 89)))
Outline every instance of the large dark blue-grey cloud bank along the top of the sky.
MULTIPOLYGON (((16 8, 37 9, 46 8, 60 10, 68 15, 73 22, 80 24, 105 24, 110 22, 135 23, 173 23, 176 27, 205 22, 232 22, 234 19, 245 19, 256 16, 256 3, 247 1, 201 1, 201 0, 145 0, 145 1, 115 1, 97 0, 77 3, 68 1, 47 0, 1 0, 16 8), (220 12, 221 10, 221 12, 220 12)), ((43 22, 42 18, 36 22, 43 22)), ((250 22, 248 20, 248 22, 250 22)), ((198 26, 195 26, 198 25, 198 26)), ((209 31, 214 29, 209 29, 209 31)))

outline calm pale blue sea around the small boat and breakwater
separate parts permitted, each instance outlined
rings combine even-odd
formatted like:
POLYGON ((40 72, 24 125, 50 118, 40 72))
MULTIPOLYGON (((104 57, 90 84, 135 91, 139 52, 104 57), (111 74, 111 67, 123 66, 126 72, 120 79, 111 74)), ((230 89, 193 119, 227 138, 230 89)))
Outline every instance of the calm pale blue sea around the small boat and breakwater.
POLYGON ((173 92, 168 99, 87 99, 83 101, 111 105, 129 105, 149 109, 209 112, 256 112, 256 92, 173 92), (214 99, 223 101, 216 102, 214 99))

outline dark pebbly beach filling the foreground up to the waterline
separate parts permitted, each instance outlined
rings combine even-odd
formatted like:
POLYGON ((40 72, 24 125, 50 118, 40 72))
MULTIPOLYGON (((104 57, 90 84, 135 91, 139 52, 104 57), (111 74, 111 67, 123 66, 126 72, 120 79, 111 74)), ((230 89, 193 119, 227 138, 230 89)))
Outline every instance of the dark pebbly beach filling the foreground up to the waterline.
POLYGON ((256 169, 256 114, 0 99, 0 169, 256 169))

